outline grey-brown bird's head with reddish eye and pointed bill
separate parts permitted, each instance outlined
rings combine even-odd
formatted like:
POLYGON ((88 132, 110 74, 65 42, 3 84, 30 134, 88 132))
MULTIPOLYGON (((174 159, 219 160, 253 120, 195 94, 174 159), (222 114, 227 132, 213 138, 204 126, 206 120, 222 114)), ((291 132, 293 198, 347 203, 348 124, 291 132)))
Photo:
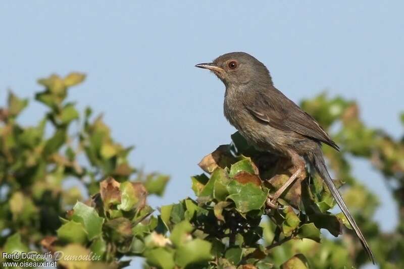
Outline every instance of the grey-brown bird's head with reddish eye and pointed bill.
POLYGON ((263 63, 245 52, 230 52, 212 63, 196 67, 211 70, 227 86, 248 84, 251 81, 271 83, 271 76, 263 63))

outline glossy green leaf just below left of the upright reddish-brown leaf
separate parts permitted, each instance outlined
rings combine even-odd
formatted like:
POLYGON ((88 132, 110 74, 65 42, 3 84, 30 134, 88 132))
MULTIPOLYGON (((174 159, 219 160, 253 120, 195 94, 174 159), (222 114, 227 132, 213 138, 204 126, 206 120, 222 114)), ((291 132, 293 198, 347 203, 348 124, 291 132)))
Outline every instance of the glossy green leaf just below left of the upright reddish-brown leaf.
POLYGON ((73 207, 72 220, 81 223, 87 232, 88 240, 102 235, 104 218, 98 216, 93 207, 77 202, 73 207))

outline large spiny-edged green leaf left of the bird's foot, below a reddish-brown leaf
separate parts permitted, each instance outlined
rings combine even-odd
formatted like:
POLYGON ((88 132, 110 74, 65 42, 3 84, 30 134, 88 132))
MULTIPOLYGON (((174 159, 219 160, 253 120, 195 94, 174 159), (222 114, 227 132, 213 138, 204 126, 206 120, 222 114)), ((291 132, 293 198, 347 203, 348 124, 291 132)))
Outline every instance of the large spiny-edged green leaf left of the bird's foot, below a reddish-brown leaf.
POLYGON ((234 201, 236 208, 241 212, 260 209, 267 199, 268 189, 262 190, 253 183, 241 184, 233 180, 227 185, 230 193, 227 199, 234 201))

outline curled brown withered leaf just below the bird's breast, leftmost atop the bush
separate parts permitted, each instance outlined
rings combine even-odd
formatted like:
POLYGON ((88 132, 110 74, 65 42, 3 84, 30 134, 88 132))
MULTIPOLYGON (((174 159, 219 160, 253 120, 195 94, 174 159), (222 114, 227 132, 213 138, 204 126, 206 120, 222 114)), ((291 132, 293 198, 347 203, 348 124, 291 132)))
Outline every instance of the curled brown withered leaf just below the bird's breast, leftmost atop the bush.
POLYGON ((218 167, 230 167, 236 160, 229 151, 229 145, 220 145, 211 154, 206 155, 198 166, 206 173, 212 173, 218 167))

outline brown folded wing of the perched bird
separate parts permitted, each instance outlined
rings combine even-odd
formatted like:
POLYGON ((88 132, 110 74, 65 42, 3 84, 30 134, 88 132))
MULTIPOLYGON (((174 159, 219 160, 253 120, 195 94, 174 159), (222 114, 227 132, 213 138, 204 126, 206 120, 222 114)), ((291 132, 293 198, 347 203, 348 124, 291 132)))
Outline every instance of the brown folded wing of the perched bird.
POLYGON ((259 92, 254 99, 245 100, 244 105, 254 117, 273 128, 293 131, 339 150, 338 145, 312 116, 277 89, 269 93, 259 92))

